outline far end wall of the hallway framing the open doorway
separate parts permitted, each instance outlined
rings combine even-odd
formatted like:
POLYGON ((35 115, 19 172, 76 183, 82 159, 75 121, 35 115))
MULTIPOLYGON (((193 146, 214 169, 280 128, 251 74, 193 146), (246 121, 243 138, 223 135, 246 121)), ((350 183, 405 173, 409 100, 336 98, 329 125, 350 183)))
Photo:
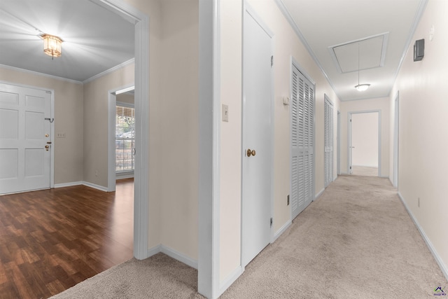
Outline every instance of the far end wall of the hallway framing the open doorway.
POLYGON ((361 111, 381 111, 381 174, 380 176, 389 176, 390 163, 390 111, 391 107, 387 97, 379 99, 361 99, 358 101, 341 102, 341 173, 347 174, 347 160, 348 160, 348 134, 349 128, 348 113, 361 111))

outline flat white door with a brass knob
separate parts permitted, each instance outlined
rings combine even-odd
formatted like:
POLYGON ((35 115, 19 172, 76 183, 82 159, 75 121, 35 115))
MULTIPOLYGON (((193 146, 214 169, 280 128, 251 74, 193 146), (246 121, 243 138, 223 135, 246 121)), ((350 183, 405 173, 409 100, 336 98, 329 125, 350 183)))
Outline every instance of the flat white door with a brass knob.
POLYGON ((272 173, 271 36, 244 13, 242 263, 270 242, 272 173))

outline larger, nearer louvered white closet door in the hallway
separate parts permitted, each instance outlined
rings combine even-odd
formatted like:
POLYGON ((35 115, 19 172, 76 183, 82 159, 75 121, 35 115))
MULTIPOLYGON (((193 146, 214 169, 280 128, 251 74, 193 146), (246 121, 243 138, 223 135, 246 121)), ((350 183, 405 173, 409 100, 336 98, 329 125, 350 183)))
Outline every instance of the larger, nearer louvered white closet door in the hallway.
POLYGON ((314 199, 314 85, 294 65, 291 95, 291 210, 295 218, 314 199))

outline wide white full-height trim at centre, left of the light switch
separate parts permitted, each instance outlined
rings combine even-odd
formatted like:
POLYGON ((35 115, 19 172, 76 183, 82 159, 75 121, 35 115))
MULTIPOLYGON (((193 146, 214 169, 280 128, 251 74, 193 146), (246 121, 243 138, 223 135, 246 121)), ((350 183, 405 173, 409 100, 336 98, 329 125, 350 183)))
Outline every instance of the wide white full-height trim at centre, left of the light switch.
POLYGON ((218 298, 220 228, 220 1, 199 1, 199 181, 197 291, 218 298))

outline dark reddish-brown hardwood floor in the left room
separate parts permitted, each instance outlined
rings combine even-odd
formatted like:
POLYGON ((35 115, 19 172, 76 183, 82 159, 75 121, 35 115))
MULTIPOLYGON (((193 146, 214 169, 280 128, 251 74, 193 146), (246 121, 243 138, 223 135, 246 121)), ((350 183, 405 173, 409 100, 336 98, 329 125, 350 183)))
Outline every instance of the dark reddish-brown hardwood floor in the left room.
POLYGON ((0 298, 48 298, 132 258, 134 181, 0 196, 0 298))

